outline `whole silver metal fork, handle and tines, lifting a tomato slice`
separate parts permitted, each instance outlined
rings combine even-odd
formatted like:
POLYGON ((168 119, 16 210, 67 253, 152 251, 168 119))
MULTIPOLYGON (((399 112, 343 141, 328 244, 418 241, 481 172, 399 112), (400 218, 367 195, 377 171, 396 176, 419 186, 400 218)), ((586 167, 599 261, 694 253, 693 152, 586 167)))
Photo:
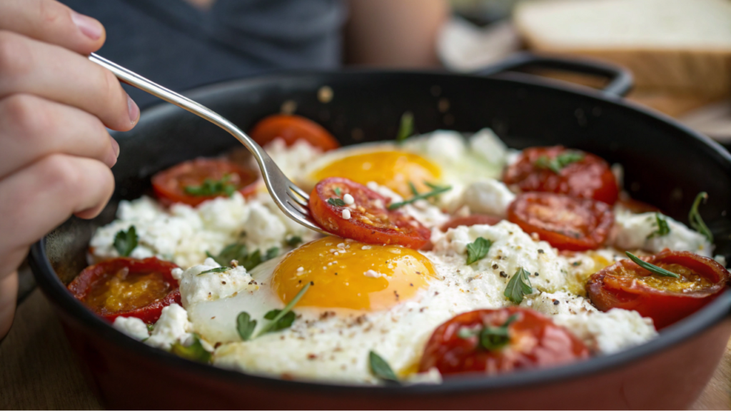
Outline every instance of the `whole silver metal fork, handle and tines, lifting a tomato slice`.
POLYGON ((166 102, 173 103, 179 108, 188 110, 196 116, 205 118, 206 120, 211 121, 211 123, 216 124, 216 126, 221 127, 221 129, 230 132, 230 134, 236 137, 236 139, 239 140, 244 147, 249 149, 251 154, 254 155, 254 158, 257 159, 257 164, 262 170, 262 177, 264 178, 264 183, 267 185, 269 195, 272 196, 274 203, 279 206, 281 211, 284 212, 284 215, 310 230, 315 230, 322 234, 328 234, 325 230, 322 230, 316 222, 314 222, 310 215, 308 208, 309 195, 303 189, 300 189, 300 187, 292 183, 287 176, 284 176, 284 173, 279 170, 279 167, 271 159, 271 157, 269 157, 269 154, 255 143, 254 140, 251 140, 251 137, 246 135, 245 132, 233 125, 231 121, 223 118, 213 110, 205 108, 203 105, 194 102, 192 99, 183 97, 180 94, 175 93, 175 91, 164 88, 163 86, 143 78, 141 75, 129 71, 128 69, 125 69, 124 67, 121 67, 120 65, 101 56, 91 53, 89 60, 94 61, 94 63, 108 69, 110 72, 113 72, 114 75, 124 81, 124 83, 140 88, 140 90, 147 91, 155 97, 164 99, 166 102))

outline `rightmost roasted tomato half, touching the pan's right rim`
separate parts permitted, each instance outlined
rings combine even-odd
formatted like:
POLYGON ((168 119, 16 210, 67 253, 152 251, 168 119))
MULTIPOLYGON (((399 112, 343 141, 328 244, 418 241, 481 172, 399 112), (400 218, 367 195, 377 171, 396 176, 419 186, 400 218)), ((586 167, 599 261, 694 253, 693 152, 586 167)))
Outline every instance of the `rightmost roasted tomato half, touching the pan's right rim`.
POLYGON ((660 329, 712 301, 726 289, 730 278, 723 265, 692 252, 665 249, 640 258, 680 278, 653 274, 631 260, 620 260, 586 283, 586 293, 596 308, 635 310, 652 318, 660 329))

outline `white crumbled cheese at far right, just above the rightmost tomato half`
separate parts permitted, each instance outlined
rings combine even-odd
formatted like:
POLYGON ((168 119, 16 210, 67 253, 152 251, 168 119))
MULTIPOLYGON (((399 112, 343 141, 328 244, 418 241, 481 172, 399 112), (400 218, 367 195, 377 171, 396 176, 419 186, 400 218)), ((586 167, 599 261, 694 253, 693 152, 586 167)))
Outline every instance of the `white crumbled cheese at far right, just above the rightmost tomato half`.
POLYGON ((683 223, 668 216, 662 216, 662 218, 667 221, 670 233, 648 238, 657 230, 656 213, 632 214, 628 211, 617 211, 614 223, 616 229, 614 245, 620 249, 643 249, 648 252, 661 252, 668 248, 711 257, 713 246, 703 235, 690 230, 683 223))

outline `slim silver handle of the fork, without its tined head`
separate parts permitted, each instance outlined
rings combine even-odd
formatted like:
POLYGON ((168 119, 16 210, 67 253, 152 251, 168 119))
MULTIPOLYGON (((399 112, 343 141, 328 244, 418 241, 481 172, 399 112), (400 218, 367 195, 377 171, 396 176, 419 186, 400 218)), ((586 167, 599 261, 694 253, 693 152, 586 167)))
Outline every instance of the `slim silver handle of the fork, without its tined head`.
POLYGON ((97 56, 96 54, 91 53, 89 55, 89 60, 94 61, 94 63, 99 64, 105 69, 108 69, 110 72, 113 72, 113 74, 117 76, 117 78, 119 78, 120 80, 124 81, 124 83, 127 83, 130 86, 140 88, 140 90, 146 91, 155 97, 159 97, 160 99, 165 100, 166 102, 177 105, 179 108, 188 110, 196 116, 205 118, 206 120, 211 121, 211 123, 216 124, 216 126, 219 126, 222 129, 225 129, 227 132, 230 132, 231 135, 236 137, 236 139, 239 140, 241 144, 243 144, 243 146, 251 151, 251 154, 254 154, 254 158, 257 159, 260 168, 264 167, 263 163, 265 162, 265 160, 268 160, 267 167, 271 167, 271 165, 274 164, 266 151, 264 151, 261 146, 254 142, 254 140, 251 140, 251 137, 246 135, 245 132, 241 131, 241 129, 236 127, 231 121, 228 121, 226 118, 220 116, 218 113, 211 110, 210 108, 207 108, 204 105, 200 105, 197 102, 194 102, 192 99, 189 99, 188 97, 183 97, 181 94, 175 93, 175 91, 164 88, 163 86, 160 86, 159 84, 154 83, 153 81, 148 80, 143 76, 130 71, 129 69, 125 69, 119 64, 113 63, 112 61, 109 61, 102 56, 97 56))

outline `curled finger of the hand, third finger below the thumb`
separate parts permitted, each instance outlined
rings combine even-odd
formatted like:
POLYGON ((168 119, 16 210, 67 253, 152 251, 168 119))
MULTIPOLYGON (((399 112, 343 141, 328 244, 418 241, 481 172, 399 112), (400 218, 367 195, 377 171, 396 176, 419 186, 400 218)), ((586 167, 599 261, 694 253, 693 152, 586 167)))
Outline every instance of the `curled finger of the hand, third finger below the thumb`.
POLYGON ((15 271, 27 247, 71 214, 91 218, 112 195, 102 162, 52 154, 0 180, 0 276, 15 271))

